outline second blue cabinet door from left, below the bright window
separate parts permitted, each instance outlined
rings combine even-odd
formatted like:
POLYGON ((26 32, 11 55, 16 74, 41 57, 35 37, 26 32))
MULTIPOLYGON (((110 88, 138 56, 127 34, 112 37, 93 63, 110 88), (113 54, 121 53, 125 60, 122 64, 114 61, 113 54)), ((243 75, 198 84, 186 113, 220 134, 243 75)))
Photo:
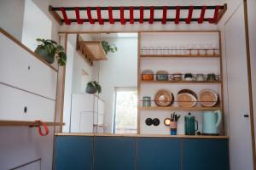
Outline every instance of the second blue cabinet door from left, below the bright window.
POLYGON ((134 170, 136 139, 95 137, 95 170, 134 170))

